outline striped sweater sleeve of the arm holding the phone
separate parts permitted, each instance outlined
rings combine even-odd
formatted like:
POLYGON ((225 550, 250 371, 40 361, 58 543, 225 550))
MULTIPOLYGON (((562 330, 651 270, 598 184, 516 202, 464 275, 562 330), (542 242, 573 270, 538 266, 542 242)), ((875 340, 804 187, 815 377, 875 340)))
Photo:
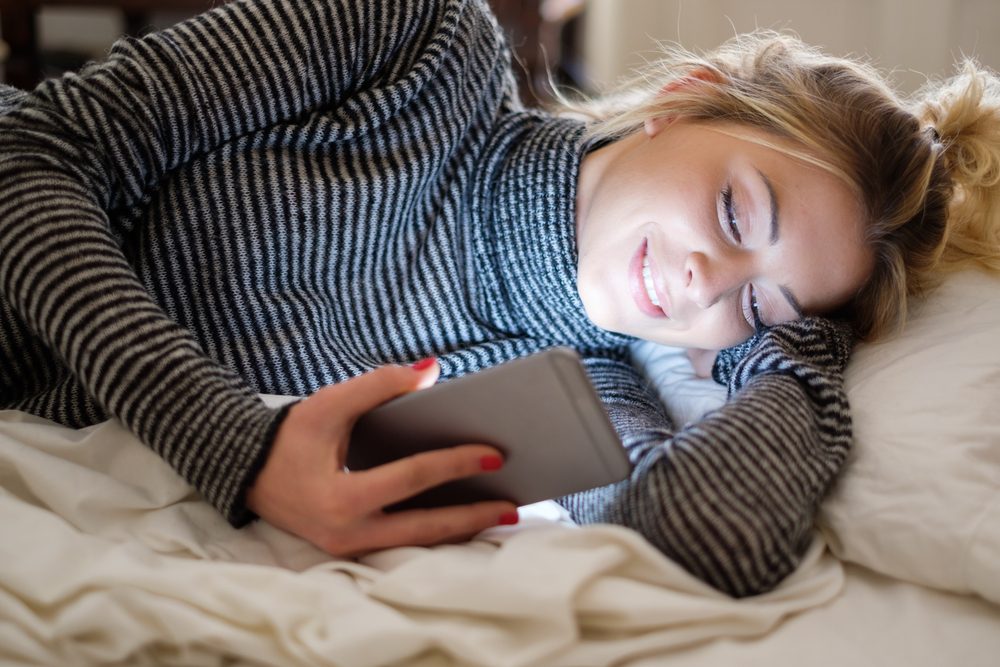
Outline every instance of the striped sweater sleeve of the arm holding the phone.
POLYGON ((0 297, 108 415, 234 525, 281 413, 144 291, 109 211, 178 165, 405 69, 443 2, 226 4, 48 80, 0 117, 0 297))

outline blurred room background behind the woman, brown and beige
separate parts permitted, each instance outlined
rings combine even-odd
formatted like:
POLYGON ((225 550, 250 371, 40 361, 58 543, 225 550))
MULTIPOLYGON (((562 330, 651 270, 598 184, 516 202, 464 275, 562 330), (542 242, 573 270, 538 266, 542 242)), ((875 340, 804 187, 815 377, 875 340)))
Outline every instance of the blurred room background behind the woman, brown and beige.
MULTIPOLYGON (((167 27, 225 0, 0 0, 0 69, 22 88, 103 57, 123 34, 167 27)), ((405 2, 406 0, 389 0, 405 2)), ((1000 0, 490 0, 515 47, 522 95, 550 80, 600 92, 658 41, 710 49, 755 27, 787 29, 837 55, 863 55, 904 91, 963 55, 1000 69, 1000 0)))

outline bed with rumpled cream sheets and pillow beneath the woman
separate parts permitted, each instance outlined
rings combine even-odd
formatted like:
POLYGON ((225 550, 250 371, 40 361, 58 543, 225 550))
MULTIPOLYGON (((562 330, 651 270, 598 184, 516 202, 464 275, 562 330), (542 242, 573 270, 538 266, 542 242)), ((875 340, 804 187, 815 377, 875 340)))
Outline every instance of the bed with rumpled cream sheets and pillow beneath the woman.
MULTIPOLYGON (((1000 281, 958 274, 847 372, 856 445, 799 569, 728 599, 554 503, 332 559, 233 530, 116 422, 0 412, 0 664, 1000 664, 1000 281)), ((634 359, 679 423, 722 400, 634 359)), ((265 397, 280 402, 282 397, 265 397)))

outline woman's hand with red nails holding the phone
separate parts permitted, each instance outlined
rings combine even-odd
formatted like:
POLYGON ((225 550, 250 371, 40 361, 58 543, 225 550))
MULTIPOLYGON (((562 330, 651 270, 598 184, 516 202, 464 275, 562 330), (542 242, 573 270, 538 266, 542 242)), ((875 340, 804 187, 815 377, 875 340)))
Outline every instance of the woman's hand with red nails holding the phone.
POLYGON ((438 373, 436 363, 383 366, 292 406, 247 493, 248 507, 336 556, 455 541, 515 523, 517 507, 505 501, 382 511, 438 484, 498 469, 502 460, 492 447, 462 445, 369 470, 344 469, 357 418, 396 396, 433 385, 438 373))

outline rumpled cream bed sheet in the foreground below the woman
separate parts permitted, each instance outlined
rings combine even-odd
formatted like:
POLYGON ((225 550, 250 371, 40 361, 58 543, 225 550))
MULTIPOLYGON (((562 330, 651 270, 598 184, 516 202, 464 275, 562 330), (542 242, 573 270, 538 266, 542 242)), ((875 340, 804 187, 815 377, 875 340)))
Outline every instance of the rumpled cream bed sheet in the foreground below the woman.
POLYGON ((115 422, 72 431, 12 411, 0 412, 0 486, 5 665, 743 665, 756 651, 760 664, 836 651, 886 664, 856 658, 897 648, 906 664, 938 665, 963 647, 961 664, 987 665, 1000 655, 998 608, 876 575, 852 575, 845 589, 820 538, 778 590, 745 601, 631 531, 567 524, 554 504, 468 544, 331 559, 265 523, 231 529, 115 422), (912 630, 910 643, 859 641, 884 627, 912 630))

